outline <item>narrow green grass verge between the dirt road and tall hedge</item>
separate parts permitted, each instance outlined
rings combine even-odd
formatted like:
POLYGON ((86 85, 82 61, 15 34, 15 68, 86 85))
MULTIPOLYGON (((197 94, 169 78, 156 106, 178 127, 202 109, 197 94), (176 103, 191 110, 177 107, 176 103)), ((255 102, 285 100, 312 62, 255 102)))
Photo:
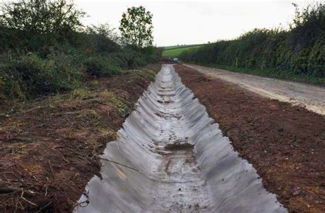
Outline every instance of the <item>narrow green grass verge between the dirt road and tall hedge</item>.
POLYGON ((325 86, 325 78, 324 77, 315 77, 312 75, 303 75, 303 74, 295 74, 291 72, 283 72, 276 71, 271 69, 254 69, 254 68, 242 68, 236 66, 227 66, 220 64, 201 64, 202 66, 208 66, 213 68, 223 68, 229 71, 234 71, 238 73, 247 73, 251 75, 259 75, 263 77, 274 77, 276 79, 285 79, 294 82, 302 82, 307 84, 316 84, 319 86, 325 86))

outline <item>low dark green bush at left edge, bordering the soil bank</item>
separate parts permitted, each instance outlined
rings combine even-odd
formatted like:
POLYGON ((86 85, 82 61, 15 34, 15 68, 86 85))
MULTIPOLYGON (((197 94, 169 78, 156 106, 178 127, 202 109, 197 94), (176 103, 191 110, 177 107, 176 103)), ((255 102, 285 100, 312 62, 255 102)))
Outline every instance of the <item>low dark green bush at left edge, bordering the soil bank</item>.
POLYGON ((29 53, 7 58, 0 67, 1 91, 12 98, 34 98, 75 86, 82 77, 82 67, 73 66, 69 55, 49 55, 43 59, 29 53))

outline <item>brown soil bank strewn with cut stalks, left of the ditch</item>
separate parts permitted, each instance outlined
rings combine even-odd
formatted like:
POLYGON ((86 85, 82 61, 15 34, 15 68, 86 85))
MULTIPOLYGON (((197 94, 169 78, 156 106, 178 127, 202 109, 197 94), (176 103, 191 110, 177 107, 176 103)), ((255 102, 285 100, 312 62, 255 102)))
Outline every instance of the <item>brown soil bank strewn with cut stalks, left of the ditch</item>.
POLYGON ((98 155, 149 85, 145 76, 91 79, 85 88, 3 111, 0 212, 71 212, 99 175, 98 155))

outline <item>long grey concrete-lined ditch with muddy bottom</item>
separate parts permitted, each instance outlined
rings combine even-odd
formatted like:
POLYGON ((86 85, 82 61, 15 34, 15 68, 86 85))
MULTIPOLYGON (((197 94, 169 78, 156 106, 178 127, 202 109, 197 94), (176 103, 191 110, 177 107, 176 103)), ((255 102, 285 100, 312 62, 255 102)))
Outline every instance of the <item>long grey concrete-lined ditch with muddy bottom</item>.
POLYGON ((136 105, 75 212, 287 212, 172 65, 136 105))

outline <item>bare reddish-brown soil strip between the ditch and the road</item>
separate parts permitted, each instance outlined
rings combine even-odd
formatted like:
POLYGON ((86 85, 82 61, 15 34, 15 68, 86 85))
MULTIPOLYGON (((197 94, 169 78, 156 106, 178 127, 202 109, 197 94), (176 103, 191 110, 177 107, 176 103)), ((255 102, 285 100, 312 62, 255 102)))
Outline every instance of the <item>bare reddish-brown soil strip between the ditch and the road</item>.
POLYGON ((210 116, 289 212, 325 212, 325 117, 176 65, 210 116))

